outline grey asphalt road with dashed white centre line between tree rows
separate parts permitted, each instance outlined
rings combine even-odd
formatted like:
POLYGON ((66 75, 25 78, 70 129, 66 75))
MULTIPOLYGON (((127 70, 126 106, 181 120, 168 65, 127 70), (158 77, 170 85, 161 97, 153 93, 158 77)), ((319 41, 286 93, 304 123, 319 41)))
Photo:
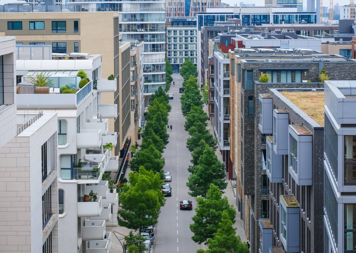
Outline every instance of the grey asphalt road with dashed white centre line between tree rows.
POLYGON ((164 149, 163 157, 166 160, 165 172, 171 172, 172 197, 166 197, 167 202, 161 209, 158 223, 155 226, 156 240, 153 243, 152 253, 172 252, 197 252, 201 246, 192 240, 193 233, 189 229, 192 216, 195 214, 196 201, 188 195, 190 152, 186 145, 188 132, 184 130, 185 118, 182 115, 179 97, 179 87, 182 87, 183 78, 179 74, 172 75, 175 86, 171 86, 169 93, 174 94, 173 100, 169 100, 172 110, 168 117, 168 124, 172 125, 169 132, 169 143, 164 149), (193 210, 179 210, 180 200, 191 200, 193 210))

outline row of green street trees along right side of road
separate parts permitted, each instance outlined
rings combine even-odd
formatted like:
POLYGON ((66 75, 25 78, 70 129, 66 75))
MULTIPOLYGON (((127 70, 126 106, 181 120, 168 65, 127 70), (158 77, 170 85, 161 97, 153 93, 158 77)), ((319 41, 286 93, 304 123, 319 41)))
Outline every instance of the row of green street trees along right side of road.
POLYGON ((186 119, 184 128, 190 135, 187 148, 192 152, 187 186, 189 195, 197 197, 196 213, 192 217, 194 223, 189 226, 194 234, 192 239, 208 247, 208 250, 198 250, 198 253, 250 252, 247 244, 236 236, 233 227, 236 210, 229 205, 226 196, 222 197, 222 190, 227 186, 225 168, 215 154, 216 139, 206 128, 208 115, 203 111, 197 71, 189 58, 180 69, 180 75, 184 79, 184 94, 180 98, 186 119))

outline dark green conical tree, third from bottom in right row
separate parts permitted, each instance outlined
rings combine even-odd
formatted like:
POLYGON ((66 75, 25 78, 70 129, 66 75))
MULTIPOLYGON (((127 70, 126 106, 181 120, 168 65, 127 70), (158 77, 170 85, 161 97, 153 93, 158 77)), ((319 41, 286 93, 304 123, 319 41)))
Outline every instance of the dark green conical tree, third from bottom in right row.
POLYGON ((226 188, 225 166, 216 157, 215 151, 211 147, 205 148, 199 158, 199 165, 194 167, 194 173, 188 178, 188 194, 193 197, 203 196, 208 193, 210 184, 219 187, 220 190, 226 188))

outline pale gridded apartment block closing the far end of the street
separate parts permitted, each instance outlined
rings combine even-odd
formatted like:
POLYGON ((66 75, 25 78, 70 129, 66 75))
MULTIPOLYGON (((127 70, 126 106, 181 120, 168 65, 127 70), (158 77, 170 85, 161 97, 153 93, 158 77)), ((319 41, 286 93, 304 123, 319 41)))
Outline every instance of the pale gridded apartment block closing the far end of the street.
POLYGON ((177 73, 188 57, 197 66, 197 22, 174 19, 167 30, 167 58, 177 73))

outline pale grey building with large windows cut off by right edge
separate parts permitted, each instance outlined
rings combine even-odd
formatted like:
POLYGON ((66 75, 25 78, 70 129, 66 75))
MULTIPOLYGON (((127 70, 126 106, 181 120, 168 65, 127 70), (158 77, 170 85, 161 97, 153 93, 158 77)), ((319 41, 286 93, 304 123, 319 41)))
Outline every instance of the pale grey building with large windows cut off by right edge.
POLYGON ((355 81, 324 84, 324 252, 328 253, 355 252, 355 92, 355 81))

